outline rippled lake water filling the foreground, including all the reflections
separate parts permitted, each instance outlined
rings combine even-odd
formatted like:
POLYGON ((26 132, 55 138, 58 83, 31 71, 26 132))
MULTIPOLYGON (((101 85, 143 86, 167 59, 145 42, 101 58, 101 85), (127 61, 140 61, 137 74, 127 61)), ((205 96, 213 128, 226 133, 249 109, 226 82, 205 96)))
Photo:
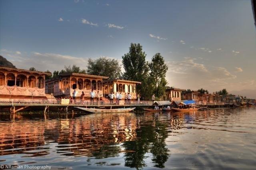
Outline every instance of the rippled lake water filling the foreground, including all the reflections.
POLYGON ((0 114, 0 164, 255 169, 256 107, 194 113, 0 114))

